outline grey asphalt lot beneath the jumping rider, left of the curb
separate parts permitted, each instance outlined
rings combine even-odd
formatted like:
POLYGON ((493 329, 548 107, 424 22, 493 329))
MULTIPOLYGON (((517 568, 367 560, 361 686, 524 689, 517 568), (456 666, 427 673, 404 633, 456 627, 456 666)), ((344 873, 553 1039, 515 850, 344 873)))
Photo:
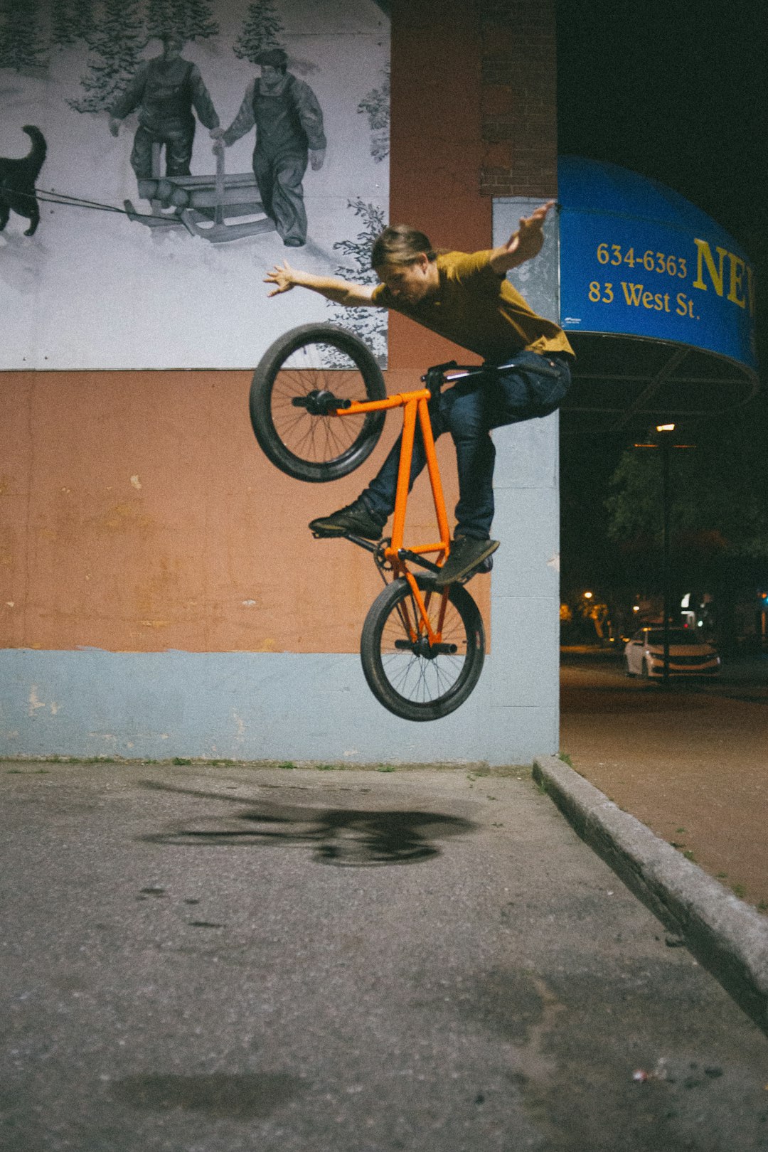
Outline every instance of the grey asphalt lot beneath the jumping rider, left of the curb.
POLYGON ((529 770, 0 789, 5 1152, 768 1149, 765 1033, 529 770))

